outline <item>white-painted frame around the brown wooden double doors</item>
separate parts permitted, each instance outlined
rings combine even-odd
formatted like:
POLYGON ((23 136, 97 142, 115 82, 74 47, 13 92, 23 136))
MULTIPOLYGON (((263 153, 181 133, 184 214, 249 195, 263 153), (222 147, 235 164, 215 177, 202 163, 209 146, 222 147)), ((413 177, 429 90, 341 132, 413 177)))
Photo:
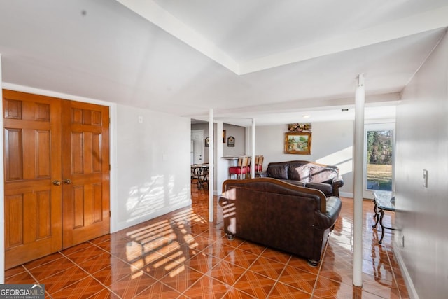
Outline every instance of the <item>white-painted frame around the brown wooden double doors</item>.
MULTIPOLYGON (((0 56, 1 58, 1 56, 0 56)), ((110 172, 110 197, 109 197, 109 207, 111 209, 111 218, 110 218, 110 228, 111 228, 111 232, 116 232, 118 230, 118 225, 117 225, 117 219, 116 216, 118 214, 118 205, 117 205, 117 173, 116 173, 116 164, 117 164, 117 153, 116 153, 116 125, 117 125, 117 104, 116 103, 111 103, 111 102, 105 102, 105 101, 100 101, 97 99, 90 99, 87 97, 78 97, 78 96, 74 96, 74 95, 66 95, 60 92, 52 92, 50 90, 41 90, 38 88, 29 88, 26 86, 22 86, 22 85, 15 85, 15 84, 10 84, 10 83, 3 83, 1 81, 1 60, 0 60, 0 84, 1 84, 1 88, 0 88, 0 98, 3 99, 3 89, 8 89, 8 90, 15 90, 18 92, 28 92, 28 93, 32 93, 35 95, 44 95, 47 97, 57 97, 59 99, 68 99, 71 101, 76 101, 76 102, 83 102, 83 103, 90 103, 90 104, 97 104, 97 105, 102 105, 102 106, 108 106, 109 107, 109 118, 111 119, 110 125, 109 125, 109 159, 110 159, 110 165, 111 165, 111 172, 110 172)), ((0 101, 0 111, 3 111, 3 101, 0 101)), ((5 198, 5 193, 4 193, 4 153, 3 153, 3 140, 4 140, 4 136, 3 136, 3 117, 0 118, 0 126, 2 128, 1 132, 0 132, 0 158, 1 158, 1 162, 0 163, 0 224, 3 226, 4 228, 4 224, 5 224, 5 210, 4 210, 4 198, 5 198)), ((5 252, 5 244, 4 244, 4 230, 0 230, 0 284, 4 284, 4 265, 5 265, 5 256, 4 256, 4 252, 5 252)))

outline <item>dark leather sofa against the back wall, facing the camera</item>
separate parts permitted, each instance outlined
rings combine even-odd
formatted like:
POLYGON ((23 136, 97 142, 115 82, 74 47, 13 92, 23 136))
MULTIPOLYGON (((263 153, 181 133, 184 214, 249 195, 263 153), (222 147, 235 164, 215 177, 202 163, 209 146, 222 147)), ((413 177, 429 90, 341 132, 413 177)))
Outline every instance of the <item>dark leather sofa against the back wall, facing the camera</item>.
POLYGON ((271 162, 264 172, 258 172, 255 177, 270 177, 297 186, 318 189, 326 196, 339 197, 339 188, 344 186, 337 166, 302 160, 271 162))

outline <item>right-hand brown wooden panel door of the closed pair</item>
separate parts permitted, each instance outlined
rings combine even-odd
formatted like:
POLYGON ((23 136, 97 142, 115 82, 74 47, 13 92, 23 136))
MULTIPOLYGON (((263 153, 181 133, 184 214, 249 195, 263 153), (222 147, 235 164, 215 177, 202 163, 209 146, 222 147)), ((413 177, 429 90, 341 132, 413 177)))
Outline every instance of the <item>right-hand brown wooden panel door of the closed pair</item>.
POLYGON ((62 247, 109 233, 109 107, 62 103, 62 247))

